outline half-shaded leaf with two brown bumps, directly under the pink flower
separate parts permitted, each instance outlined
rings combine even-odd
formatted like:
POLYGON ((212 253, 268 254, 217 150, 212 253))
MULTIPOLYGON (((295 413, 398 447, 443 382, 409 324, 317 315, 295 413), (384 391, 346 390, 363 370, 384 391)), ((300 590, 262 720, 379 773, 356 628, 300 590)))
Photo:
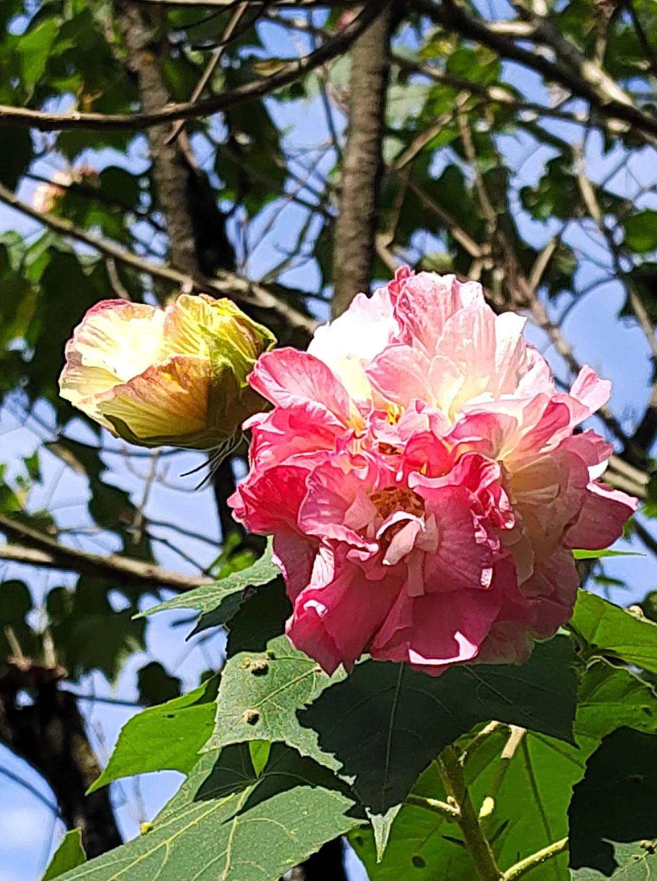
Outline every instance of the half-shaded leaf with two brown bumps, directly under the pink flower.
POLYGON ((285 617, 276 595, 262 591, 233 621, 208 748, 284 741, 335 769, 368 810, 383 814, 476 722, 498 719, 572 739, 575 655, 565 637, 536 646, 520 667, 453 667, 430 677, 365 661, 349 677, 328 677, 284 636, 269 635, 280 633, 285 617))

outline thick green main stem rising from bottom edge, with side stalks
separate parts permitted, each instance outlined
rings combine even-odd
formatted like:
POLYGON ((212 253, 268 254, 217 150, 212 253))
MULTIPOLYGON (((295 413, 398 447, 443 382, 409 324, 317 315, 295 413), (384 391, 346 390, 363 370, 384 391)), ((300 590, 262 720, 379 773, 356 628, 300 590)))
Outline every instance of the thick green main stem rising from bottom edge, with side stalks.
POLYGON ((453 803, 458 810, 457 823, 474 863, 476 873, 481 881, 501 881, 502 873, 498 869, 491 845, 479 825, 475 808, 470 801, 468 788, 465 785, 463 768, 453 746, 447 746, 436 759, 439 774, 447 792, 447 801, 453 803))

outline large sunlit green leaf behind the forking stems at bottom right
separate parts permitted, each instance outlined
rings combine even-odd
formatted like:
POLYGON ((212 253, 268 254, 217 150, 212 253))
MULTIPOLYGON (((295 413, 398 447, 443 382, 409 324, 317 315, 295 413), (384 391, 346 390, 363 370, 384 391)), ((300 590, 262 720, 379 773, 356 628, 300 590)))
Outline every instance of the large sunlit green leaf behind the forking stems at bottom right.
MULTIPOLYGON (((508 761, 501 783, 500 753, 507 734, 497 730, 472 751, 465 764, 469 793, 478 811, 486 796, 494 796, 492 811, 483 818, 486 833, 502 869, 568 833, 567 808, 572 787, 586 770, 587 757, 602 737, 619 724, 654 731, 657 700, 650 685, 629 670, 598 660, 591 663, 579 686, 575 735, 578 747, 552 737, 528 732, 508 761)), ((460 741, 470 744, 476 731, 460 741)), ((412 790, 416 796, 445 799, 445 791, 430 766, 412 790)), ((491 802, 488 802, 489 807, 491 802)), ((461 845, 458 827, 416 805, 404 804, 389 831, 388 848, 377 862, 375 835, 351 833, 351 844, 365 862, 371 881, 426 881, 436 878, 476 877, 461 845)), ((532 870, 532 881, 568 877, 567 857, 561 855, 532 870)))

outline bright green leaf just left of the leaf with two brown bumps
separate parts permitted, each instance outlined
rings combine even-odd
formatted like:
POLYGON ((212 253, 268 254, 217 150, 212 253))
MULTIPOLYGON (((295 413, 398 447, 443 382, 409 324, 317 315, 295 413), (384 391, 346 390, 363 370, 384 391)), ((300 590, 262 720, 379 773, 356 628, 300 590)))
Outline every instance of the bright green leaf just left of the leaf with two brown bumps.
POLYGON ((107 767, 89 792, 132 774, 164 770, 188 774, 210 737, 216 695, 213 678, 181 698, 133 716, 121 729, 107 767))

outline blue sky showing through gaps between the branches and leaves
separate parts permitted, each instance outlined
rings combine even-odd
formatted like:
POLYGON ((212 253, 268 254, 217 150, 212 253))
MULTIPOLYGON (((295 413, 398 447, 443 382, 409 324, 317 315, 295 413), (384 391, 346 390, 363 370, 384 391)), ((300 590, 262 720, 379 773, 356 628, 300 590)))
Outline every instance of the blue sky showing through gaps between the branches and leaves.
MULTIPOLYGON (((496 3, 494 11, 496 17, 502 17, 508 12, 503 2, 496 3)), ((273 56, 290 56, 299 52, 299 45, 285 38, 283 30, 277 26, 263 26, 262 35, 273 56)), ((302 48, 307 49, 303 39, 299 38, 299 43, 302 48)), ((523 71, 519 78, 517 69, 514 70, 513 65, 509 65, 507 74, 527 93, 530 100, 545 98, 538 78, 526 71, 523 71)), ((308 104, 303 108, 303 112, 300 112, 298 105, 293 104, 278 105, 270 102, 269 106, 277 124, 284 130, 290 130, 288 140, 295 147, 317 146, 327 141, 328 131, 318 101, 308 104)), ((550 122, 550 129, 561 135, 567 131, 568 137, 581 137, 579 127, 569 123, 550 122)), ((535 145, 528 137, 505 137, 503 150, 507 162, 518 175, 518 180, 529 184, 539 179, 544 163, 551 155, 550 150, 535 150, 535 145)), ((587 174, 593 181, 602 181, 616 167, 619 159, 622 159, 620 150, 603 156, 600 139, 596 136, 588 139, 587 174)), ((616 174, 609 186, 625 196, 653 183, 657 178, 657 163, 654 160, 652 150, 636 152, 628 166, 616 174)), ((109 151, 104 151, 96 154, 92 161, 94 165, 101 167, 117 161, 117 157, 109 151)), ((141 139, 130 156, 129 165, 135 170, 144 162, 144 141, 141 139)), ((48 169, 51 171, 57 164, 56 159, 43 160, 39 171, 41 174, 48 173, 48 169)), ((326 172, 331 164, 330 155, 325 155, 318 167, 326 172)), ((21 189, 22 195, 29 196, 32 186, 24 184, 21 189)), ((643 207, 653 207, 654 203, 654 196, 642 196, 643 207)), ((249 228, 250 254, 245 270, 253 278, 262 277, 271 267, 279 263, 282 251, 293 247, 305 220, 305 211, 297 205, 288 203, 269 232, 265 233, 278 207, 269 206, 262 212, 262 217, 249 228)), ((0 210, 0 231, 10 228, 30 234, 38 229, 33 221, 19 217, 13 211, 0 210)), ((548 241, 554 233, 552 225, 535 223, 528 218, 520 218, 520 228, 528 240, 537 247, 548 241)), ((605 261, 609 263, 605 248, 592 241, 590 235, 581 229, 573 226, 568 233, 568 241, 583 254, 594 255, 602 263, 605 261)), ((415 256, 417 256, 423 250, 434 250, 436 240, 428 231, 417 236, 415 245, 417 246, 415 256)), ((578 290, 584 289, 602 276, 603 270, 599 266, 590 260, 582 259, 576 286, 578 290)), ((318 284, 318 275, 312 263, 303 263, 286 272, 284 281, 313 290, 318 284)), ((646 339, 641 331, 631 322, 621 322, 616 317, 622 296, 621 287, 615 281, 601 285, 572 308, 563 330, 574 345, 579 361, 594 366, 602 376, 613 381, 612 409, 617 417, 631 425, 633 419, 643 411, 647 400, 650 364, 646 339)), ((570 297, 567 295, 560 298, 556 304, 550 305, 551 314, 557 317, 569 302, 570 297)), ((564 366, 548 345, 543 333, 530 327, 528 338, 541 348, 557 372, 565 377, 564 366)), ((46 426, 52 424, 53 417, 48 405, 39 406, 36 412, 40 421, 46 426)), ((69 427, 72 436, 80 436, 83 439, 86 431, 79 425, 69 427)), ((11 406, 0 411, 0 461, 9 463, 10 475, 18 472, 20 467, 18 456, 26 455, 35 448, 39 438, 44 437, 46 433, 42 426, 33 420, 26 426, 20 426, 17 411, 11 406)), ((104 455, 104 460, 110 469, 106 479, 129 490, 137 499, 142 492, 142 478, 148 468, 148 460, 139 458, 130 461, 124 455, 120 455, 122 449, 120 442, 108 438, 104 440, 107 441, 108 450, 114 450, 104 455)), ((157 483, 153 485, 146 512, 156 519, 203 531, 205 536, 218 541, 217 516, 210 491, 204 489, 192 492, 196 478, 180 477, 184 471, 199 462, 200 458, 194 454, 167 456, 163 459, 159 468, 166 468, 166 485, 157 483)), ((48 452, 41 455, 41 467, 43 486, 33 492, 31 507, 37 508, 48 504, 48 507, 55 510, 56 520, 62 527, 85 525, 85 500, 88 493, 85 481, 70 470, 63 469, 55 456, 48 452)), ((89 525, 88 522, 86 525, 89 525)), ((167 533, 166 529, 159 529, 159 535, 166 537, 173 534, 167 533)), ((77 540, 79 546, 94 552, 114 550, 112 538, 107 535, 79 537, 77 540)), ((70 541, 74 543, 73 538, 70 538, 70 541)), ((185 549, 202 565, 208 564, 216 556, 215 550, 209 544, 202 542, 189 540, 185 549)), ((156 551, 162 564, 181 571, 194 571, 188 562, 166 546, 158 545, 156 551)), ((623 577, 631 583, 631 595, 618 591, 612 593, 611 598, 616 602, 630 603, 631 600, 644 596, 648 590, 656 586, 653 559, 632 557, 610 561, 605 568, 609 575, 623 577)), ((25 566, 7 566, 1 575, 4 579, 11 577, 26 579, 37 601, 56 584, 71 583, 70 576, 44 573, 25 566)), ((181 614, 171 613, 149 619, 147 652, 133 655, 129 659, 114 687, 108 685, 100 675, 94 675, 86 677, 76 691, 100 699, 135 700, 136 670, 153 658, 159 659, 167 669, 181 676, 186 688, 196 685, 201 670, 207 669, 210 665, 218 666, 220 663, 223 639, 218 636, 203 649, 192 647, 190 650, 183 640, 186 629, 172 626, 174 621, 180 618, 181 614)), ((135 712, 135 708, 99 700, 85 701, 82 706, 89 722, 93 743, 98 748, 101 760, 107 760, 122 724, 135 712)), ((113 785, 112 797, 117 818, 126 838, 137 833, 139 822, 152 818, 159 811, 180 781, 179 774, 161 773, 146 775, 137 781, 124 781, 113 785)), ((35 774, 24 762, 13 757, 9 751, 0 747, 0 881, 36 881, 41 876, 48 862, 48 856, 63 834, 62 823, 55 818, 53 811, 47 806, 47 803, 52 801, 52 793, 38 774, 35 774), (21 781, 33 787, 40 795, 37 796, 26 786, 10 780, 4 775, 4 771, 18 775, 21 781)))

